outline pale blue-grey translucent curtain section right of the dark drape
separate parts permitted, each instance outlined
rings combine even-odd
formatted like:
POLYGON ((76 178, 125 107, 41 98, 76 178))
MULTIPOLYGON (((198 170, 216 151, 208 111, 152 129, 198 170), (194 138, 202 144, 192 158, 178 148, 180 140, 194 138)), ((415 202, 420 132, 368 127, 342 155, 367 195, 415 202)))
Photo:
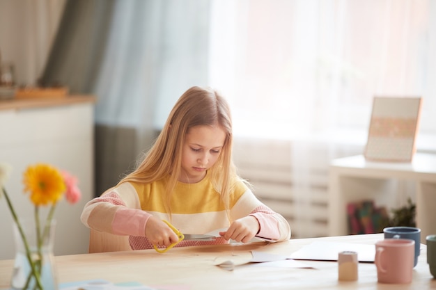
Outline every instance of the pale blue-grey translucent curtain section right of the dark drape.
POLYGON ((207 82, 208 1, 115 3, 94 88, 102 100, 96 122, 153 132, 189 86, 207 82))

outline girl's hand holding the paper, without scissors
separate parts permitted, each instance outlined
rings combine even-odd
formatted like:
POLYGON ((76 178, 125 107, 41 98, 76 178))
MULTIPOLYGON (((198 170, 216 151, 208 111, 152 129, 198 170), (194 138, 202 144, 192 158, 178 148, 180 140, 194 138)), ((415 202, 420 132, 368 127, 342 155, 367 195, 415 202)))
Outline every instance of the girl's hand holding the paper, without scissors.
POLYGON ((235 220, 227 232, 219 232, 227 241, 232 239, 237 242, 247 243, 259 232, 260 225, 254 216, 245 216, 239 220, 235 220))

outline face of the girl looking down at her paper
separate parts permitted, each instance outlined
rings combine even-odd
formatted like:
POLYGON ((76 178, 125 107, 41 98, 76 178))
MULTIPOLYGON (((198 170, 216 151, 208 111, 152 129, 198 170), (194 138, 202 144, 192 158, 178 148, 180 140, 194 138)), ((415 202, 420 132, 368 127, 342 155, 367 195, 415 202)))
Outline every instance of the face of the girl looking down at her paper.
POLYGON ((200 182, 221 154, 226 132, 219 126, 200 125, 186 134, 182 148, 182 170, 179 182, 200 182))

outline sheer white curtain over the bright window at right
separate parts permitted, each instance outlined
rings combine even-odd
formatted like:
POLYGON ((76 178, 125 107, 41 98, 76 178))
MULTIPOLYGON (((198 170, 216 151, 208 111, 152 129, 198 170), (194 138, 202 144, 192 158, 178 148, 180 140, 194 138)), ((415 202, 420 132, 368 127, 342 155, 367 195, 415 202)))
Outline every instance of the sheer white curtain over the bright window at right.
MULTIPOLYGON (((211 11, 210 83, 231 100, 235 136, 290 142, 297 236, 317 234, 329 161, 363 152, 373 97, 423 97, 418 150, 436 152, 436 1, 215 0, 211 11)), ((413 195, 402 193, 398 206, 413 195)))

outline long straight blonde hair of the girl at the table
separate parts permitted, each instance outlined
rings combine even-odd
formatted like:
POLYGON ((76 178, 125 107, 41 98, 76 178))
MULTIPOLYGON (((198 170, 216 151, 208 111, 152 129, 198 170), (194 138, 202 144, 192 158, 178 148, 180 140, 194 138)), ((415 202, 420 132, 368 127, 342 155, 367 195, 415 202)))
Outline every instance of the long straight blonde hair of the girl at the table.
POLYGON ((228 211, 231 191, 239 179, 231 156, 231 111, 226 99, 211 88, 194 86, 178 99, 153 147, 137 169, 124 177, 118 185, 123 182, 150 183, 168 177, 164 198, 166 210, 171 216, 170 200, 180 175, 182 145, 187 131, 198 125, 219 125, 226 132, 221 154, 209 169, 209 174, 228 211))

